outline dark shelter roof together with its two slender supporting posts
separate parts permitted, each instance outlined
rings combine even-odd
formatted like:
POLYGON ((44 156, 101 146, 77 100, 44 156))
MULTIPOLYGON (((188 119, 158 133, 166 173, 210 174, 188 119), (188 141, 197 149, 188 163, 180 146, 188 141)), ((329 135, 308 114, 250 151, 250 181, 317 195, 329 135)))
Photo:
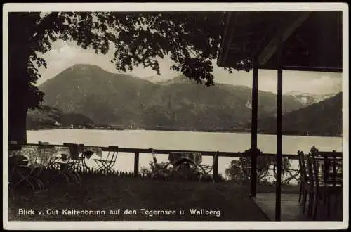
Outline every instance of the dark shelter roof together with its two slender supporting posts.
POLYGON ((277 182, 275 219, 281 218, 282 70, 342 72, 342 11, 227 13, 218 66, 253 68, 251 195, 256 196, 258 69, 277 70, 277 182))

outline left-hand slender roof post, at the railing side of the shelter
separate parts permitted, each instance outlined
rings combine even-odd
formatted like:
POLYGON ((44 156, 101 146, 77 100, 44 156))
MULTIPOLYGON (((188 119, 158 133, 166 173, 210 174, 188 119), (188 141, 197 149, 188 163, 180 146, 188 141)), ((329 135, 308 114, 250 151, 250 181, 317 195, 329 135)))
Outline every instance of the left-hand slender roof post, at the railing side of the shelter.
POLYGON ((251 197, 256 196, 257 182, 257 115, 258 115, 258 58, 253 58, 251 109, 251 197))

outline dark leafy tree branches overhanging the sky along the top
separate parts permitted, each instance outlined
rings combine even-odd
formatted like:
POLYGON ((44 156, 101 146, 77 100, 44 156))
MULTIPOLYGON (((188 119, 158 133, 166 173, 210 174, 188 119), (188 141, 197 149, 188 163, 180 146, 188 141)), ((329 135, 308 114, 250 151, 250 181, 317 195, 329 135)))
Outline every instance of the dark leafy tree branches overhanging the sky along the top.
POLYGON ((9 56, 16 60, 10 59, 10 69, 22 67, 18 78, 27 86, 29 108, 43 97, 34 85, 39 67, 47 65, 40 55, 57 39, 95 53, 114 49, 111 62, 122 72, 143 65, 159 73, 157 58, 169 56, 175 63, 172 70, 211 86, 211 60, 218 56, 225 19, 223 12, 31 12, 9 17, 9 56))

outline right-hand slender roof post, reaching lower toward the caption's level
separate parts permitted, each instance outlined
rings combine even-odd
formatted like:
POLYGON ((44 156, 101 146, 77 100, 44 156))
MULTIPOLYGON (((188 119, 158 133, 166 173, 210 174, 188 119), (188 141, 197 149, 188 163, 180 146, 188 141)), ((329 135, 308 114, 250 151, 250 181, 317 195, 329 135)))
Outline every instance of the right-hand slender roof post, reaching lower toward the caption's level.
POLYGON ((281 187, 282 187, 282 108, 283 108, 283 70, 282 70, 282 37, 277 47, 277 183, 275 199, 275 221, 280 221, 281 187))

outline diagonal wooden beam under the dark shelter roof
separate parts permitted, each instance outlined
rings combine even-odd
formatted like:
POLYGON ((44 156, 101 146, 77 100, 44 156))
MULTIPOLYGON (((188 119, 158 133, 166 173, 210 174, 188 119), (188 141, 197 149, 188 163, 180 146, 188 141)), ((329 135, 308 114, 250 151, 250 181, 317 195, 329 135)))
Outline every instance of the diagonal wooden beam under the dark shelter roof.
POLYGON ((263 51, 258 56, 258 63, 260 65, 264 65, 268 60, 273 56, 273 54, 277 51, 278 39, 282 36, 282 42, 286 41, 293 32, 295 32, 298 27, 308 18, 310 12, 303 12, 298 15, 297 18, 292 20, 291 22, 287 22, 286 24, 279 27, 277 33, 274 37, 268 42, 267 46, 263 49, 263 51))

